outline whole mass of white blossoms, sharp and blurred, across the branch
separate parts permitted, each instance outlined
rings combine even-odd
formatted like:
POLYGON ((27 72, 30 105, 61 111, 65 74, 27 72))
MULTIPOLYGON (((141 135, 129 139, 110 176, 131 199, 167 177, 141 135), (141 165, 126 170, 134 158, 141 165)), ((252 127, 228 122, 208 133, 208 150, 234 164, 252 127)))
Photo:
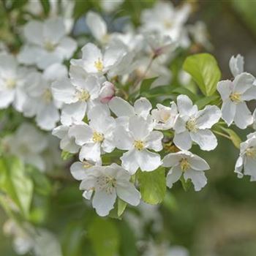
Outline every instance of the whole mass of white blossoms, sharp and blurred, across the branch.
MULTIPOLYGON (((40 129, 60 139, 64 153, 78 154, 79 161, 70 167, 72 176, 100 216, 115 208, 117 198, 138 206, 143 198, 141 173, 167 167, 167 187, 178 180, 191 181, 199 191, 206 186, 205 170, 210 167, 191 152, 192 147, 214 150, 215 134, 222 135, 221 118, 228 127, 256 126, 256 111, 252 114, 246 105, 256 99, 256 80, 244 72, 240 55, 230 59, 234 79, 216 85, 221 99, 215 91, 214 96, 222 102, 221 110, 219 102, 207 99, 202 106, 192 100, 187 88, 177 95, 169 86, 151 100, 151 91, 170 85, 169 65, 176 49, 188 48, 193 40, 205 48, 209 45, 202 24, 186 26, 190 9, 189 4, 176 9, 160 1, 143 10, 141 26, 127 23, 121 32, 111 31, 100 15, 90 11, 83 21, 94 42, 86 42, 75 56, 78 43, 68 35, 70 20, 50 15, 23 26, 24 45, 17 56, 0 53, 0 108, 12 105, 26 118, 35 118, 40 129), (69 61, 69 69, 64 61, 69 61)), ((49 161, 42 155, 47 147, 53 148, 52 140, 22 124, 3 141, 10 154, 45 170, 49 161)), ((252 133, 241 143, 236 163, 238 176, 244 169, 252 181, 255 148, 252 133)))

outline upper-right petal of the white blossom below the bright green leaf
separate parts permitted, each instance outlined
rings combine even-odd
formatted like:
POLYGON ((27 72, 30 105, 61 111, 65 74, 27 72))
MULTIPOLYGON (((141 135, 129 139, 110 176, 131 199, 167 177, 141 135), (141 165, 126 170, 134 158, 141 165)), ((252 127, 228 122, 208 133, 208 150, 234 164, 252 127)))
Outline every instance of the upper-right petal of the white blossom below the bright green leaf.
POLYGON ((200 129, 210 129, 221 117, 222 112, 217 106, 208 105, 203 110, 198 111, 196 115, 197 127, 200 129))

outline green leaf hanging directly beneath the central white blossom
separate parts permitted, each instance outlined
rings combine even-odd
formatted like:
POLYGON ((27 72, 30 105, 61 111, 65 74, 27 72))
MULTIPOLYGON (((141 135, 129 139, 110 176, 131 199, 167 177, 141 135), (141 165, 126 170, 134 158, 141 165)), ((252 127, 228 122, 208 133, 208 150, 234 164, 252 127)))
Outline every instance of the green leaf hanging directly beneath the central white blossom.
POLYGON ((165 198, 166 179, 165 168, 159 167, 152 172, 138 171, 140 194, 144 202, 157 204, 165 198))

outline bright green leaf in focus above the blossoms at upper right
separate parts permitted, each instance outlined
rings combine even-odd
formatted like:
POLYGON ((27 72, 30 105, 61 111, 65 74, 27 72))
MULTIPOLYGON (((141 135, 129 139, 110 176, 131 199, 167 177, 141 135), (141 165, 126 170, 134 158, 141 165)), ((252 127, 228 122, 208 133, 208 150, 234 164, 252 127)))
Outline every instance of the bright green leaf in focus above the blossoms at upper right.
POLYGON ((221 72, 214 56, 209 53, 189 56, 184 61, 183 69, 192 75, 204 95, 214 94, 221 78, 221 72))

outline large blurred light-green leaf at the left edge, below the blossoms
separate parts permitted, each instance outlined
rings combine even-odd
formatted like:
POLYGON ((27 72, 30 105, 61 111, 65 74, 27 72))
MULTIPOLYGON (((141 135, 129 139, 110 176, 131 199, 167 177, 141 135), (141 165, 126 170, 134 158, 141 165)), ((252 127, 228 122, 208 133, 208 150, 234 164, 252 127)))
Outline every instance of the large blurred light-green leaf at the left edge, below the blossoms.
POLYGON ((25 172, 23 162, 16 157, 1 158, 0 173, 0 189, 7 193, 24 216, 28 217, 34 186, 25 172))

